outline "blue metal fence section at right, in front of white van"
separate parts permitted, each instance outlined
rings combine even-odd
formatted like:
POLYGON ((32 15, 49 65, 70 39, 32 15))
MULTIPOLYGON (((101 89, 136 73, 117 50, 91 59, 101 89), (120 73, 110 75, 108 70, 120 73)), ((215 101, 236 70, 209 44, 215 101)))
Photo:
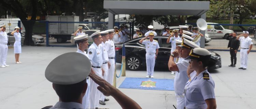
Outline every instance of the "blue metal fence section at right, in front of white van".
MULTIPOLYGON (((196 24, 190 24, 196 27, 196 24)), ((243 31, 249 32, 249 37, 253 40, 253 45, 256 45, 256 25, 238 25, 238 24, 214 24, 208 23, 205 30, 205 48, 212 50, 228 51, 228 37, 230 33, 236 32, 238 35, 243 31), (211 39, 211 40, 209 40, 211 39), (210 41, 210 42, 209 42, 210 41)), ((237 36, 238 36, 237 35, 237 36)), ((243 37, 243 36, 241 36, 243 37)), ((240 44, 241 46, 241 44, 240 44)), ((240 47, 239 47, 240 50, 240 47)), ((256 51, 256 46, 253 46, 252 51, 256 51)))

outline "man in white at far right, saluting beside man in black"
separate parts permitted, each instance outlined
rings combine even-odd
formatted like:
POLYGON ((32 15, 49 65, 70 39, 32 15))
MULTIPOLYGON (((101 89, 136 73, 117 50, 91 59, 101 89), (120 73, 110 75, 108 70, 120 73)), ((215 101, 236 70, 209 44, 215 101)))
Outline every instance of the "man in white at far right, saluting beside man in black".
POLYGON ((237 37, 237 40, 241 41, 241 50, 240 50, 241 67, 239 67, 239 69, 244 69, 244 70, 247 68, 248 54, 253 48, 253 40, 250 37, 248 37, 248 35, 249 35, 248 31, 243 31, 243 34, 240 34, 237 37), (244 37, 240 37, 242 35, 244 37))

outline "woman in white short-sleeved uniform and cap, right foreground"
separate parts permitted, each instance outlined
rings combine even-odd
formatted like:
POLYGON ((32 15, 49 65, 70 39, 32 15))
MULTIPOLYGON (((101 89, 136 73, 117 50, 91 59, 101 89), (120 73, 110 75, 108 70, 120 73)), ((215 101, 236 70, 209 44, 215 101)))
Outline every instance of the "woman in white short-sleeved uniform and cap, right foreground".
POLYGON ((204 48, 194 48, 188 58, 188 70, 196 71, 187 81, 183 95, 185 96, 184 109, 216 109, 214 81, 207 71, 211 58, 210 52, 204 48))

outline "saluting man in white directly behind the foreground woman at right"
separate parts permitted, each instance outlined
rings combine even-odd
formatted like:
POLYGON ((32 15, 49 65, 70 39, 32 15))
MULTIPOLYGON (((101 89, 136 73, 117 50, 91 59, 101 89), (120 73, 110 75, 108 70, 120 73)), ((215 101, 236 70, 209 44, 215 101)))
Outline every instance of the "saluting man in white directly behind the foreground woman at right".
POLYGON ((180 54, 183 60, 178 63, 174 62, 174 58, 177 58, 179 56, 178 51, 175 50, 171 53, 171 56, 168 62, 169 70, 177 72, 174 77, 174 91, 175 91, 176 100, 177 100, 177 109, 183 109, 184 103, 185 103, 185 99, 182 93, 184 91, 186 82, 189 80, 189 77, 187 76, 189 59, 187 57, 189 56, 191 49, 200 48, 194 42, 188 41, 186 38, 183 38, 181 46, 182 46, 182 49, 180 50, 180 54))

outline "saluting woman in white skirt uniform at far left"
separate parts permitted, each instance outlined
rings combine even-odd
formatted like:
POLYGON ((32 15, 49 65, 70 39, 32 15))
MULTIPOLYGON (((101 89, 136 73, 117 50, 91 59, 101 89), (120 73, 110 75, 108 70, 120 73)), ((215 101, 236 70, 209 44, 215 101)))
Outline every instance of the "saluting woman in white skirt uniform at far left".
POLYGON ((19 54, 21 53, 21 35, 19 33, 19 27, 15 27, 14 31, 11 33, 15 37, 14 42, 14 54, 15 54, 15 63, 22 63, 19 61, 19 54))

